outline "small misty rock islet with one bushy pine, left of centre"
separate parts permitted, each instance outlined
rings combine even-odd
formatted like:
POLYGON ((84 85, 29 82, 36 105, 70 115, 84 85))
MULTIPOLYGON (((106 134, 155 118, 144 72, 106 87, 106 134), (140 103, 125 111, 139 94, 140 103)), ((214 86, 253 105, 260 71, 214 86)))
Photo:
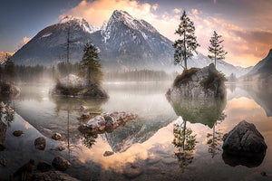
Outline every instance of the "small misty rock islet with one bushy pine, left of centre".
POLYGON ((78 75, 69 73, 69 70, 63 79, 56 75, 56 85, 50 90, 51 95, 102 99, 109 97, 101 86, 103 73, 97 48, 92 43, 86 43, 83 52, 78 75))

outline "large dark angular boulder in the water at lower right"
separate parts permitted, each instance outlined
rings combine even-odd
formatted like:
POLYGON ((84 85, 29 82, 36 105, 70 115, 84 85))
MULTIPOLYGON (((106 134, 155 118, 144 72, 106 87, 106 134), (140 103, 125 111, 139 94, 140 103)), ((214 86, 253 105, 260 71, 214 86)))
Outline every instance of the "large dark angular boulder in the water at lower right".
POLYGON ((266 154, 267 145, 263 136, 257 131, 254 124, 243 120, 225 134, 223 149, 230 154, 256 155, 266 154))

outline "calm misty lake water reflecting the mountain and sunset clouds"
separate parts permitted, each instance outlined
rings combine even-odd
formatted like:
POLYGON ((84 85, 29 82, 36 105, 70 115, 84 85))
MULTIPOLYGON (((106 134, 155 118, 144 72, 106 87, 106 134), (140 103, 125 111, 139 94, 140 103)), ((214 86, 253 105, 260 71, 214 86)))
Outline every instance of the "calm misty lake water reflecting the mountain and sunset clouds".
POLYGON ((167 100, 170 82, 116 82, 103 87, 109 100, 52 98, 49 87, 23 86, 21 95, 11 100, 15 119, 7 126, 6 149, 0 152, 9 163, 0 167, 0 177, 7 179, 30 158, 37 164, 62 156, 73 165, 65 173, 80 180, 129 180, 124 172, 131 164, 142 169, 133 180, 272 179, 271 91, 229 84, 226 100, 167 100), (83 135, 77 130, 82 124, 77 119, 83 114, 78 110, 81 105, 93 113, 126 111, 139 118, 112 133, 83 135), (222 136, 243 119, 254 123, 265 138, 263 160, 223 155, 222 136), (15 138, 16 129, 25 134, 15 138), (46 138, 44 151, 34 149, 34 138, 54 132, 63 140, 46 138), (182 145, 182 138, 188 144, 182 145), (50 150, 61 144, 64 151, 50 150), (105 151, 114 154, 103 157, 105 151))

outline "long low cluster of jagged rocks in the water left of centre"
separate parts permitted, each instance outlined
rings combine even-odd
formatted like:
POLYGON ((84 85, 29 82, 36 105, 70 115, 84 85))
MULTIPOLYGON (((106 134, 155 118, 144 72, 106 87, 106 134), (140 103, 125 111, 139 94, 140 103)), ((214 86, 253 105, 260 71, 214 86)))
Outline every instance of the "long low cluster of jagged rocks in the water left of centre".
POLYGON ((90 119, 87 124, 81 125, 78 129, 83 133, 98 134, 105 131, 111 132, 113 129, 124 125, 131 119, 136 119, 137 114, 126 112, 113 112, 111 114, 102 114, 90 119))

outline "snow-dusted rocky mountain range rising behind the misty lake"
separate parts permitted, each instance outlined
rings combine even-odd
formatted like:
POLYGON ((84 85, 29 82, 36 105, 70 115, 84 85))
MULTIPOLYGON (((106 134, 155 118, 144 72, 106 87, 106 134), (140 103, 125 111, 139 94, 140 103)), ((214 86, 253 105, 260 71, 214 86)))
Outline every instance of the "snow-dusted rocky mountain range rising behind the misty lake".
MULTIPOLYGON (((92 41, 98 47, 103 68, 107 71, 163 70, 181 71, 173 65, 172 42, 161 35, 151 24, 137 20, 124 11, 115 10, 108 22, 96 28, 84 19, 66 16, 59 24, 53 24, 37 33, 12 57, 16 64, 55 65, 65 61, 68 29, 70 29, 71 62, 79 62, 83 46, 92 41)), ((189 60, 189 67, 204 67, 213 62, 200 52, 189 60)), ((219 61, 219 71, 237 77, 248 73, 252 67, 242 68, 219 61)))

